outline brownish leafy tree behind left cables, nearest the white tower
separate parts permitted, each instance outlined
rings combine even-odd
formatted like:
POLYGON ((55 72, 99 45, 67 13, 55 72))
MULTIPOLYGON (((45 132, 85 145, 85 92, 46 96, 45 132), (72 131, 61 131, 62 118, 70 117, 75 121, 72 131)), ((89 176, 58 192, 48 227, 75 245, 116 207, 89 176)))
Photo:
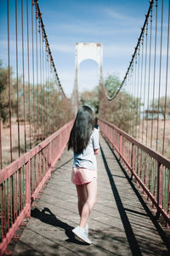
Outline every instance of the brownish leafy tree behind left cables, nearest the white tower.
MULTIPOLYGON (((39 134, 41 140, 73 119, 71 100, 65 98, 54 83, 47 81, 42 87, 36 84, 34 90, 30 84, 30 106, 28 84, 25 84, 25 90, 26 121, 31 120, 32 128, 35 124, 36 133, 39 134)), ((20 103, 23 106, 22 94, 20 103)))

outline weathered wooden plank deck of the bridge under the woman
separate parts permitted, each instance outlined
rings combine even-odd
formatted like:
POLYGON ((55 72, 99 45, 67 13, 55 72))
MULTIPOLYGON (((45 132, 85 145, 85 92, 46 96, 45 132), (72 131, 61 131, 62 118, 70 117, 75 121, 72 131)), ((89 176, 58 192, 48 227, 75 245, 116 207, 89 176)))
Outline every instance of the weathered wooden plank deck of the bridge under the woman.
POLYGON ((103 138, 100 143, 99 196, 88 222, 94 244, 84 245, 71 233, 79 216, 72 153, 65 151, 12 255, 169 255, 160 225, 103 138))

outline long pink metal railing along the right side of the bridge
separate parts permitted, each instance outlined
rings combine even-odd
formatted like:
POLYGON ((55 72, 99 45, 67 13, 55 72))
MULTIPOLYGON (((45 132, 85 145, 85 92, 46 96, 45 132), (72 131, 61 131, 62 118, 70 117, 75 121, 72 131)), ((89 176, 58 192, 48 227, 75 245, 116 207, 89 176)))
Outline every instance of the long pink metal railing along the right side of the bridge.
POLYGON ((116 150, 143 189, 147 199, 170 224, 170 160, 139 143, 126 132, 104 120, 98 120, 102 135, 116 150))

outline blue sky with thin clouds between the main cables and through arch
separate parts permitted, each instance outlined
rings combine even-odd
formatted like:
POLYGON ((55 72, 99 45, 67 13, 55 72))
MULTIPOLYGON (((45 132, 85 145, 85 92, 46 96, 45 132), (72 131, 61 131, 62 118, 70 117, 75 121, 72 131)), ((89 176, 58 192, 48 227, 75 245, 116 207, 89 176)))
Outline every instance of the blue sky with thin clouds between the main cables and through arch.
MULTIPOLYGON (((9 0, 11 16, 12 2, 9 0)), ((104 79, 115 74, 122 81, 144 24, 148 0, 39 0, 38 3, 55 67, 67 96, 71 96, 74 86, 77 43, 101 43, 104 79)), ((4 65, 8 63, 6 20, 6 1, 0 0, 0 59, 4 65)), ((98 84, 98 76, 95 61, 82 61, 79 91, 92 90, 98 84)))

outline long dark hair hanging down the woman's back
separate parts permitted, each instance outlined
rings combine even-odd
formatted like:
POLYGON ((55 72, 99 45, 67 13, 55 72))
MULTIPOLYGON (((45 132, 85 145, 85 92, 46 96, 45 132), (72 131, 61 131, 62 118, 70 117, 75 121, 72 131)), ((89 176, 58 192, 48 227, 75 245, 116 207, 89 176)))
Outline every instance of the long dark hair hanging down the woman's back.
POLYGON ((68 150, 80 154, 88 146, 89 138, 94 129, 94 112, 88 106, 82 106, 77 112, 71 135, 68 142, 68 150))

